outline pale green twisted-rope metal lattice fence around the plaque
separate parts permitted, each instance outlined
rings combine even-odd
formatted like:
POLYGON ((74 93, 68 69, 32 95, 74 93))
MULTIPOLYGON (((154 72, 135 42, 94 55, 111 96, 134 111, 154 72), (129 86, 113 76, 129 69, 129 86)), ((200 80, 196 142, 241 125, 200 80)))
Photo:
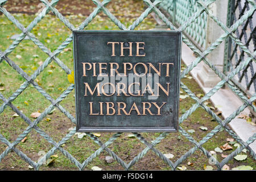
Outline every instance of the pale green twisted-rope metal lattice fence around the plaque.
MULTIPOLYGON (((232 78, 237 75, 239 72, 241 72, 243 69, 245 69, 250 63, 253 61, 255 62, 255 52, 250 51, 250 49, 247 48, 247 45, 243 43, 239 37, 234 33, 234 31, 238 30, 240 26, 243 25, 254 13, 256 9, 256 4, 253 0, 247 0, 247 3, 250 5, 249 9, 244 11, 244 13, 232 24, 232 26, 227 27, 220 19, 218 19, 216 16, 212 14, 212 12, 209 10, 209 5, 214 3, 214 0, 208 0, 208 1, 196 1, 196 5, 191 5, 192 9, 194 11, 191 11, 189 13, 187 19, 177 20, 180 21, 179 28, 176 28, 174 24, 158 9, 158 5, 160 3, 166 3, 167 1, 163 0, 156 0, 154 2, 151 2, 150 0, 143 0, 146 5, 148 6, 147 9, 139 16, 131 26, 126 27, 124 24, 122 24, 107 8, 108 3, 110 0, 103 0, 100 2, 99 0, 92 0, 97 7, 93 10, 93 12, 80 24, 79 27, 73 26, 69 22, 68 19, 66 19, 59 11, 55 8, 56 4, 59 2, 59 0, 52 0, 49 2, 48 0, 41 0, 46 7, 36 16, 34 20, 27 26, 24 27, 23 24, 19 23, 17 19, 14 18, 12 14, 9 13, 5 9, 5 3, 7 0, 0 0, 0 11, 11 21, 13 24, 19 28, 19 30, 22 31, 22 33, 14 40, 14 42, 7 48, 5 51, 0 50, 0 56, 1 56, 1 62, 6 61, 12 67, 15 69, 16 72, 18 72, 23 78, 26 79, 26 81, 20 86, 19 89, 17 89, 9 98, 5 98, 0 93, 0 99, 3 101, 3 104, 0 106, 0 115, 3 113, 3 111, 6 109, 7 106, 11 107, 12 110, 14 110, 23 120, 28 124, 26 130, 23 131, 22 134, 20 134, 16 140, 11 143, 9 140, 7 140, 2 134, 0 134, 0 141, 4 144, 6 144, 7 148, 5 151, 2 152, 0 155, 0 162, 5 158, 9 152, 14 151, 16 154, 20 156, 23 160, 25 160, 30 166, 34 167, 34 169, 38 170, 43 163, 44 159, 49 159, 51 155, 53 155, 56 150, 59 150, 66 156, 73 164, 77 166, 78 169, 84 169, 85 166, 87 166, 94 158, 96 158, 103 150, 109 153, 109 155, 113 156, 113 158, 121 164, 121 166, 124 169, 130 169, 135 163, 137 163, 139 160, 143 158, 144 155, 147 154, 149 150, 152 150, 156 155, 159 156, 160 159, 162 159, 164 162, 168 164, 172 169, 176 169, 179 164, 181 164, 184 160, 186 160, 189 156, 195 153, 196 150, 200 150, 203 152, 204 155, 207 156, 207 158, 211 158, 213 162, 216 164, 217 168, 219 170, 222 169, 222 167, 229 162, 229 160, 233 159, 234 156, 236 156, 238 153, 240 153, 244 148, 247 148, 249 150, 250 155, 256 159, 255 152, 251 149, 249 144, 253 143, 256 139, 256 133, 251 136, 246 142, 243 142, 243 140, 236 134, 234 131, 232 131, 228 123, 232 121, 238 114, 241 113, 246 107, 250 107, 254 111, 256 111, 255 105, 253 105, 253 101, 256 99, 256 94, 254 93, 253 96, 248 99, 245 94, 243 94, 240 89, 233 84, 232 78), (193 7, 196 6, 196 7, 193 7), (51 111, 56 107, 59 109, 62 113, 64 113, 71 122, 75 122, 75 118, 71 113, 69 113, 63 106, 60 105, 61 101, 64 100, 65 97, 68 96, 68 94, 71 93, 71 91, 74 89, 74 85, 71 84, 68 86, 67 89, 64 90, 63 93, 60 94, 60 96, 54 100, 49 94, 35 81, 36 77, 39 76, 40 73, 44 71, 44 69, 51 63, 52 61, 55 61, 61 68, 64 69, 64 71, 67 74, 71 73, 71 70, 57 57, 61 51, 65 47, 68 46, 69 43, 72 42, 72 34, 69 35, 63 43, 53 52, 51 52, 34 34, 31 33, 32 28, 34 28, 50 11, 52 11, 57 18, 59 18, 65 26, 67 26, 70 30, 83 30, 88 24, 93 20, 93 18, 100 13, 101 11, 104 12, 121 30, 134 30, 135 27, 137 27, 144 18, 148 16, 152 11, 156 15, 159 16, 160 19, 163 20, 164 23, 171 29, 171 30, 181 30, 181 31, 188 31, 189 28, 192 28, 192 23, 200 22, 198 19, 202 18, 204 16, 209 16, 209 18, 212 18, 214 22, 218 24, 224 30, 224 34, 220 36, 215 42, 213 42, 209 47, 205 48, 205 51, 200 51, 192 42, 187 38, 186 35, 183 34, 183 43, 187 44, 189 48, 192 49, 193 52, 195 52, 198 57, 193 61, 191 65, 188 65, 186 69, 181 73, 181 78, 183 78, 185 75, 187 75, 193 68, 196 67, 197 64, 199 64, 201 61, 204 61, 220 78, 221 81, 218 82, 214 88, 212 88, 207 94, 205 94, 204 97, 199 98, 196 97, 195 93, 193 93, 183 82, 181 82, 181 88, 186 92, 193 100, 196 101, 196 104, 192 105, 187 111, 185 111, 184 114, 182 114, 179 118, 179 124, 181 124, 185 119, 187 119, 197 108, 202 107, 205 111, 207 111, 216 121, 218 122, 218 125, 210 131, 203 139, 200 140, 200 142, 197 142, 195 138, 191 137, 183 129, 183 127, 179 126, 179 132, 184 135, 193 145, 194 147, 189 149, 181 158, 177 159, 176 162, 172 162, 170 159, 168 159, 166 156, 162 154, 158 149, 155 148, 157 144, 159 144, 167 135, 168 133, 162 133, 159 135, 158 138, 156 138, 152 142, 148 142, 145 138, 142 137, 139 133, 134 133, 134 135, 143 143, 145 144, 145 148, 137 155, 133 160, 131 160, 130 163, 125 163, 117 154, 115 154, 112 150, 108 148, 110 144, 112 144, 120 135, 121 133, 115 133, 107 142, 102 143, 100 139, 95 137, 91 133, 86 133, 94 142, 96 142, 99 146, 98 150, 96 150, 92 155, 89 156, 84 162, 80 163, 75 157, 73 157, 71 154, 69 154, 68 151, 64 150, 61 146, 66 143, 75 133, 76 128, 69 131, 67 135, 63 139, 61 139, 59 142, 55 142, 49 136, 46 132, 44 132, 40 127, 38 126, 39 122, 42 121, 44 117, 46 117, 47 114, 51 113, 51 111), (20 68, 17 64, 14 63, 13 60, 9 59, 8 55, 14 51, 14 49, 19 45, 22 40, 28 36, 28 38, 34 42, 40 49, 42 49, 43 52, 47 53, 49 56, 42 65, 36 71, 31 75, 28 76, 26 72, 23 71, 22 68, 20 68), (221 71, 219 71, 214 65, 210 62, 209 59, 207 59, 207 55, 212 52, 218 45, 220 45, 222 42, 224 42, 226 39, 232 39, 235 44, 237 44, 237 47, 241 49, 241 51, 244 52, 244 54, 247 55, 245 59, 242 59, 240 63, 234 68, 230 73, 227 73, 227 75, 224 75, 221 71), (214 93, 218 91, 218 89, 222 88, 224 84, 228 84, 228 86, 241 98, 243 101, 243 105, 241 105, 236 111, 234 111, 228 118, 222 121, 218 115, 216 115, 207 105, 204 104, 205 101, 209 100, 211 96, 213 96, 214 93), (28 118, 25 114, 22 113, 12 102, 19 96, 20 93, 22 93, 28 85, 32 85, 40 92, 48 101, 51 102, 51 105, 47 107, 43 111, 42 114, 39 115, 38 118, 35 119, 35 121, 31 121, 30 118, 28 118), (203 144, 205 142, 208 142, 208 140, 214 135, 216 135, 218 132, 220 132, 222 129, 227 131, 234 139, 237 140, 238 143, 241 144, 240 147, 238 147, 235 151, 233 151, 231 154, 229 154, 225 159, 221 160, 220 162, 210 154, 209 151, 207 151, 203 144), (47 154, 44 156, 44 158, 40 159, 38 162, 34 162, 32 159, 30 159, 26 154, 24 154, 22 151, 20 151, 18 148, 16 148, 17 144, 21 142, 21 140, 26 137, 31 130, 35 130, 38 134, 40 134, 44 139, 46 139, 49 143, 53 145, 51 150, 47 152, 47 154)), ((173 1, 170 1, 173 2, 173 1)), ((182 4, 178 5, 182 6, 182 4)), ((203 29, 201 27, 201 29, 203 29)), ((188 31, 189 32, 189 31, 188 31)), ((201 36, 203 34, 200 34, 201 36)), ((204 43, 203 43, 204 44, 204 43)), ((1 65, 0 62, 0 65, 1 65)))

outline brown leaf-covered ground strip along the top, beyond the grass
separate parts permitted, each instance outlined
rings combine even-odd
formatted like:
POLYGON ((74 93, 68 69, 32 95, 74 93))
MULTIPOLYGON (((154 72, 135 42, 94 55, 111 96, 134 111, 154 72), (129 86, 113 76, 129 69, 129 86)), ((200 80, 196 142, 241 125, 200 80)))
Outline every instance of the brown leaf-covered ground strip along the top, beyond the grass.
MULTIPOLYGON (((50 2, 50 1, 49 1, 50 2)), ((113 1, 109 2, 107 8, 115 16, 125 16, 129 18, 138 17, 141 12, 137 7, 144 6, 143 3, 131 0, 131 1, 113 1), (126 13, 123 13, 126 12, 126 13)), ((26 13, 36 14, 43 10, 44 4, 39 0, 12 0, 7 1, 5 8, 10 13, 26 13)), ((97 6, 90 0, 61 0, 57 3, 55 8, 63 15, 81 14, 84 16, 90 15, 97 6)), ((0 13, 1 14, 1 13, 0 13)), ((52 14, 53 13, 49 13, 52 14)), ((104 13, 100 13, 101 16, 106 16, 104 13)))

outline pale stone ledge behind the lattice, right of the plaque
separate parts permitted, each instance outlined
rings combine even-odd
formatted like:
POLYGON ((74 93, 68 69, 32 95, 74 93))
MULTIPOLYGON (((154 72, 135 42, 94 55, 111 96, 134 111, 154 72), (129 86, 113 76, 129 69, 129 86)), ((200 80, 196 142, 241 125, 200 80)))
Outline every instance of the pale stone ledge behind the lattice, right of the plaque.
MULTIPOLYGON (((195 61, 196 59, 195 55, 193 55, 193 51, 184 43, 182 44, 181 59, 185 65, 191 64, 192 61, 195 61)), ((203 64, 204 63, 197 64, 197 66, 193 68, 190 73, 201 89, 203 89, 204 93, 208 93, 212 88, 203 86, 197 74, 203 68, 203 64)), ((212 101, 213 105, 215 106, 221 106, 218 107, 218 110, 222 112, 222 117, 224 117, 224 119, 228 118, 230 114, 236 111, 238 107, 243 104, 240 98, 238 98, 236 94, 228 88, 228 86, 225 86, 225 89, 219 89, 218 92, 210 97, 210 101, 212 101)), ((246 107, 242 113, 249 115, 250 110, 246 107)), ((247 123, 246 119, 236 117, 229 123, 229 126, 244 142, 246 142, 249 137, 256 133, 256 126, 247 123)), ((256 140, 254 140, 254 142, 249 146, 254 150, 254 152, 256 152, 256 140)))

